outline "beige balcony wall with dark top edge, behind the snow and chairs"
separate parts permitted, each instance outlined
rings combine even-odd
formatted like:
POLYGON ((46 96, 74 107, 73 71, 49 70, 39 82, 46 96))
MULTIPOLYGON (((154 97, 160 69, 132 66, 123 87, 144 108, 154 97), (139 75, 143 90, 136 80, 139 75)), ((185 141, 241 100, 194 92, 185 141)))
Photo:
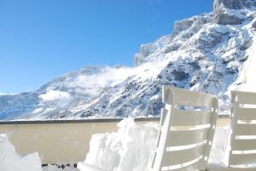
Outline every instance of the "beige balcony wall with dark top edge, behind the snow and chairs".
MULTIPOLYGON (((0 134, 9 134, 9 140, 20 155, 38 151, 43 164, 73 164, 86 157, 92 134, 117 131, 120 120, 121 118, 0 122, 0 134)), ((159 121, 159 117, 135 119, 139 124, 159 121)), ((226 126, 229 122, 229 118, 219 118, 218 126, 226 126)))

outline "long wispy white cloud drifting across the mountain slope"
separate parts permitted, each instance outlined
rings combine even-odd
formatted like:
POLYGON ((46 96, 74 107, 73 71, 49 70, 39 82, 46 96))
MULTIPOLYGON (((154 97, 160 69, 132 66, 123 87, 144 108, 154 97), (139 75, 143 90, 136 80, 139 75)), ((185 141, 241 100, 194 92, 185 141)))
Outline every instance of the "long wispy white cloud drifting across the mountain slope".
POLYGON ((106 67, 96 74, 79 75, 73 81, 67 83, 67 87, 73 88, 77 94, 95 96, 102 88, 113 87, 124 82, 128 77, 134 77, 137 80, 156 77, 159 69, 160 66, 152 64, 132 68, 106 67))

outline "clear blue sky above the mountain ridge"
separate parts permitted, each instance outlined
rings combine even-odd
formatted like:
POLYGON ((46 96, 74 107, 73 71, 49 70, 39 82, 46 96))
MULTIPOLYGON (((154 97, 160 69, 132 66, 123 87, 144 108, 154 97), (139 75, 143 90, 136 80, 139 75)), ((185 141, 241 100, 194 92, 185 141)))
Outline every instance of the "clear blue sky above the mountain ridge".
POLYGON ((86 65, 133 65, 142 43, 213 0, 0 0, 0 93, 35 90, 86 65))

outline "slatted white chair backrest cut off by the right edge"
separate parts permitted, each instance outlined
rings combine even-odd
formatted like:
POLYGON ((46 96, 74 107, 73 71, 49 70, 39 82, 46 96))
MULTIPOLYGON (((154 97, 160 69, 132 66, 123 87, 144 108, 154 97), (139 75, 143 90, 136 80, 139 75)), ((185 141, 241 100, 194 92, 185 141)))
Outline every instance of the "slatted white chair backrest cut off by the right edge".
POLYGON ((256 93, 231 91, 228 165, 256 170, 256 93))

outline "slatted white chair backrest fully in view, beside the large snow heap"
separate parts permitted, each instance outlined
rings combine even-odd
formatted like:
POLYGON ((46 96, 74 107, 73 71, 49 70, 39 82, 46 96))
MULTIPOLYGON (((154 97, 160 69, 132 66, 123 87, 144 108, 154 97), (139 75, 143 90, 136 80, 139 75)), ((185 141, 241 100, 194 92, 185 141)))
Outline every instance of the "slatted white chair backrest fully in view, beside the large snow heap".
POLYGON ((160 130, 151 170, 204 170, 218 117, 211 94, 163 86, 160 130))

